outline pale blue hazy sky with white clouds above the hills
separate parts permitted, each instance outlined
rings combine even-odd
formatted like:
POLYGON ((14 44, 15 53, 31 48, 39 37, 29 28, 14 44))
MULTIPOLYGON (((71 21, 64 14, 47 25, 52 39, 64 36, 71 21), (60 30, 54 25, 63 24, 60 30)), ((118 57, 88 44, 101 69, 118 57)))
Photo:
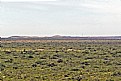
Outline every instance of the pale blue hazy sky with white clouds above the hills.
POLYGON ((0 2, 0 36, 121 35, 121 0, 0 2))

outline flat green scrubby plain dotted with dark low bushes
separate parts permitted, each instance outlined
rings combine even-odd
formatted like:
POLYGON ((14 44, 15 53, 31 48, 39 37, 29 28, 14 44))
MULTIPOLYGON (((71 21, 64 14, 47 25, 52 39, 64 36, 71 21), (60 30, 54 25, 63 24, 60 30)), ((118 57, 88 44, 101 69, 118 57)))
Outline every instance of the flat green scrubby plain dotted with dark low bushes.
POLYGON ((121 81, 121 40, 1 41, 0 81, 121 81))

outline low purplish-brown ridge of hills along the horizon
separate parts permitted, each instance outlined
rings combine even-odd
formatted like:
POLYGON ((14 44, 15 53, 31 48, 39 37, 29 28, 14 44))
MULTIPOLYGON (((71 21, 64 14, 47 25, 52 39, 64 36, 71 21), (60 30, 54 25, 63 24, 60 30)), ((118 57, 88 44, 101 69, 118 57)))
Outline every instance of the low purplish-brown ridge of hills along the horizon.
POLYGON ((0 37, 0 40, 121 40, 121 36, 97 36, 97 37, 60 36, 60 35, 54 35, 50 37, 11 36, 8 38, 0 37))

